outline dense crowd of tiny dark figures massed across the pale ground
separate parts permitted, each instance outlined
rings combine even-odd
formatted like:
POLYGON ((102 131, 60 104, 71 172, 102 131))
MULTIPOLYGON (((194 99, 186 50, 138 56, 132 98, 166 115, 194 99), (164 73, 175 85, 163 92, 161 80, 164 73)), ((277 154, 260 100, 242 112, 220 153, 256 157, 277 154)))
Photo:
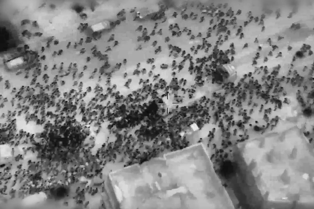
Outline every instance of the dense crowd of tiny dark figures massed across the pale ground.
MULTIPOLYGON (((295 55, 291 60, 290 69, 287 73, 283 73, 282 71, 285 69, 281 69, 280 64, 268 69, 267 61, 274 56, 273 53, 277 54, 276 58, 282 56, 284 51, 279 52, 276 44, 284 37, 280 36, 276 40, 271 38, 258 40, 253 37, 254 41, 248 38, 248 42, 243 47, 241 46, 241 50, 256 45, 257 51, 252 59, 252 71, 244 74, 239 82, 233 83, 228 82, 228 74, 225 71, 217 70, 217 66, 234 62, 234 55, 237 53, 236 44, 231 43, 228 50, 219 49, 225 41, 233 36, 233 32, 236 31, 238 39, 246 39, 244 28, 255 24, 263 33, 267 29, 264 19, 272 16, 273 13, 269 13, 268 10, 261 16, 254 16, 254 13, 249 11, 246 21, 241 23, 237 22, 237 16, 242 11, 233 11, 228 4, 188 5, 181 11, 181 14, 177 12, 173 13, 172 17, 204 21, 204 24, 209 23, 209 27, 206 35, 203 35, 198 31, 192 31, 189 26, 177 23, 169 25, 172 37, 187 35, 191 40, 202 38, 202 43, 192 46, 188 51, 180 46, 171 45, 170 38, 165 37, 165 42, 169 41, 169 55, 174 57, 172 65, 165 68, 165 73, 172 76, 170 83, 160 78, 160 74, 154 74, 154 69, 158 67, 154 65, 154 60, 158 59, 157 54, 161 47, 152 40, 155 35, 163 34, 159 26, 167 24, 167 22, 154 24, 151 32, 143 26, 138 27, 137 31, 142 33, 141 39, 138 41, 152 42, 156 57, 147 60, 147 63, 152 66, 151 70, 141 69, 140 64, 137 65, 133 75, 141 76, 148 73, 150 79, 141 79, 139 83, 141 88, 133 90, 132 94, 127 96, 123 96, 117 86, 111 84, 111 77, 115 71, 108 72, 111 66, 108 57, 97 50, 97 41, 90 37, 86 39, 85 43, 95 41, 96 45, 92 49, 92 54, 105 63, 93 71, 90 79, 96 77, 99 82, 106 79, 106 82, 103 82, 106 83, 106 88, 100 85, 84 86, 83 81, 79 80, 84 72, 88 71, 87 67, 78 69, 75 60, 68 66, 68 71, 64 75, 55 76, 52 81, 49 80, 48 71, 62 71, 65 67, 63 63, 60 63, 59 67, 55 65, 52 69, 48 69, 46 65, 41 64, 43 60, 49 59, 41 53, 49 48, 51 43, 58 44, 58 41, 53 39, 48 40, 46 47, 37 49, 39 54, 37 61, 23 72, 25 79, 30 81, 29 86, 16 88, 14 83, 10 82, 10 78, 1 78, 5 91, 11 91, 12 99, 3 98, 1 95, 0 107, 11 105, 16 109, 2 112, 1 118, 6 118, 6 123, 1 124, 0 141, 12 146, 30 143, 33 146, 25 149, 25 152, 37 153, 39 159, 35 162, 29 161, 27 169, 22 169, 21 165, 18 165, 15 173, 11 173, 12 163, 1 165, 0 191, 2 195, 10 199, 22 198, 39 191, 54 191, 51 192, 51 195, 58 198, 66 196, 66 190, 57 190, 56 188, 62 185, 74 185, 81 176, 89 178, 97 176, 102 179, 104 177, 101 171, 108 162, 124 162, 124 166, 128 166, 147 161, 165 151, 175 151, 191 145, 187 136, 182 137, 180 133, 192 123, 196 123, 200 129, 207 123, 217 124, 221 130, 221 136, 215 136, 216 130, 213 128, 208 130, 208 136, 200 138, 199 142, 205 143, 208 149, 213 150, 214 154, 211 159, 214 162, 229 159, 232 145, 248 140, 252 132, 263 133, 277 126, 280 118, 276 116, 276 111, 284 105, 289 105, 289 100, 284 97, 289 94, 291 88, 297 91, 296 98, 304 113, 307 116, 311 115, 310 100, 313 98, 314 65, 305 66, 303 71, 294 69, 296 60, 313 54, 310 45, 303 44, 294 52, 291 46, 287 46, 286 50, 289 51, 287 53, 295 53, 295 55), (189 7, 199 8, 199 13, 190 13, 189 7), (206 12, 204 12, 205 10, 206 12), (207 39, 212 36, 217 36, 217 41, 210 43, 207 39), (259 41, 267 41, 272 47, 272 50, 264 58, 260 57, 263 46, 259 45, 259 41), (198 51, 202 50, 206 55, 198 57, 198 51), (195 77, 197 85, 187 86, 186 79, 176 77, 176 72, 184 70, 185 65, 188 66, 188 73, 195 77), (73 89, 62 93, 61 88, 65 82, 62 79, 66 77, 72 77, 75 80, 73 89), (165 107, 158 105, 161 98, 167 93, 174 94, 176 102, 182 102, 182 98, 193 98, 198 87, 208 82, 208 78, 212 83, 219 83, 224 91, 203 96, 184 107, 171 108, 169 114, 165 107), (164 91, 164 95, 158 94, 157 91, 160 90, 164 91), (89 102, 84 101, 84 98, 90 93, 94 93, 94 96, 89 102), (311 97, 307 97, 308 93, 311 97), (54 112, 47 111, 51 107, 55 108, 54 112), (262 114, 263 121, 251 117, 255 111, 262 114), (40 134, 31 134, 23 129, 17 130, 16 116, 20 116, 22 113, 26 115, 27 123, 34 121, 38 125, 43 125, 44 131, 40 134), (76 119, 77 115, 82 116, 81 121, 76 119), (90 127, 96 127, 95 134, 98 134, 105 121, 110 122, 107 128, 116 136, 116 140, 104 143, 93 155, 90 151, 93 144, 85 144, 86 138, 93 141, 95 138, 91 134, 90 127), (131 129, 135 129, 135 134, 129 134, 131 129), (221 144, 212 143, 215 137, 220 138, 221 144), (170 140, 166 140, 167 138, 170 140), (12 187, 17 182, 21 184, 21 187, 15 190, 12 187), (56 191, 60 191, 62 194, 56 194, 56 191)), ((274 13, 277 19, 285 18, 281 17, 280 10, 274 13)), ((297 11, 293 11, 291 16, 295 13, 297 11)), ((118 37, 112 35, 108 41, 115 41, 118 44, 118 37)), ((83 38, 72 41, 72 43, 69 41, 68 46, 60 49, 54 56, 62 56, 63 51, 78 46, 82 46, 84 49, 83 38)), ((85 49, 82 49, 80 53, 84 54, 85 49)), ((25 46, 24 50, 29 49, 25 46)), ((90 57, 87 57, 86 60, 88 62, 90 57)), ((117 63, 115 70, 120 69, 122 65, 127 65, 127 59, 124 59, 122 64, 117 63)), ((127 73, 124 78, 127 79, 124 86, 130 88, 132 79, 128 78, 127 73)), ((14 149, 12 152, 14 153, 14 149)), ((20 162, 23 160, 23 155, 14 156, 14 160, 20 162)), ((85 200, 86 192, 95 195, 97 192, 101 192, 101 188, 97 186, 77 187, 76 195, 73 198, 78 204, 88 207, 89 201, 85 200)), ((65 204, 67 203, 65 202, 65 204)))

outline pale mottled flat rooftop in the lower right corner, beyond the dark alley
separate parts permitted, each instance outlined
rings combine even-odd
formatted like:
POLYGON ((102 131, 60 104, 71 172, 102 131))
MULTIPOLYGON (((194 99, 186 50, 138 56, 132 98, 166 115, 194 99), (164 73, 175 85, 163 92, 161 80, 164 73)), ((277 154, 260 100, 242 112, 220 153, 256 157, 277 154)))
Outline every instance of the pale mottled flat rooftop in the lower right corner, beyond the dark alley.
POLYGON ((299 128, 244 142, 236 153, 251 187, 245 190, 268 204, 297 201, 314 207, 314 149, 299 128))

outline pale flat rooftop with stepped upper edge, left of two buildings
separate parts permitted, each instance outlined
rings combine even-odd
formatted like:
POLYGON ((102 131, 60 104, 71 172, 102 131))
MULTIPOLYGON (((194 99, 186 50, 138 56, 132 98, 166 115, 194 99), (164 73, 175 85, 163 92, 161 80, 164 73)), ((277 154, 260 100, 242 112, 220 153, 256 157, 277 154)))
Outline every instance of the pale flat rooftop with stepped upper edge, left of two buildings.
POLYGON ((121 209, 234 208, 203 144, 109 174, 121 209))

